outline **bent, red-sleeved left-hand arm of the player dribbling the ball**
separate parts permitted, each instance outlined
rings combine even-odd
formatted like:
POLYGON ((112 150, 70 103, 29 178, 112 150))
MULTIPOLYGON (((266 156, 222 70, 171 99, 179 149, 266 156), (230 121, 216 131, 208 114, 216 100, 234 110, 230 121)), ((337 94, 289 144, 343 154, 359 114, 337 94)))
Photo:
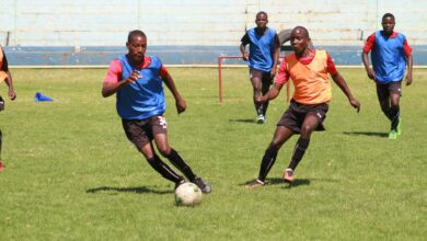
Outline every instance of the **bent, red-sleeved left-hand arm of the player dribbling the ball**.
POLYGON ((137 79, 141 78, 139 71, 135 70, 127 79, 119 81, 119 78, 122 78, 122 64, 118 60, 112 61, 107 76, 102 84, 102 96, 111 96, 125 85, 134 83, 137 79))

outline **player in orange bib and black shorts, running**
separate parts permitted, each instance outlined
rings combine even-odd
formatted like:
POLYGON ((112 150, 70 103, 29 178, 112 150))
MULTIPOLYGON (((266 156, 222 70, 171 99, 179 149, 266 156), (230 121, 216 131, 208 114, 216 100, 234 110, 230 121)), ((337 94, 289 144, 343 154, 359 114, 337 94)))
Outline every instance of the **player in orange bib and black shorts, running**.
POLYGON ((310 36, 305 27, 297 26, 292 30, 290 43, 295 53, 285 57, 274 85, 258 99, 259 102, 266 102, 277 97, 284 84, 289 78, 292 79, 295 93, 289 108, 277 123, 273 140, 262 159, 259 175, 247 184, 250 188, 264 185, 280 147, 292 135, 300 134, 291 161, 284 172, 284 181, 293 182, 293 172, 309 147, 312 131, 324 130, 322 123, 328 110, 327 103, 332 99, 327 73, 345 93, 350 105, 359 112, 360 103, 353 96, 344 78, 335 69, 331 56, 324 50, 309 48, 309 42, 310 36))

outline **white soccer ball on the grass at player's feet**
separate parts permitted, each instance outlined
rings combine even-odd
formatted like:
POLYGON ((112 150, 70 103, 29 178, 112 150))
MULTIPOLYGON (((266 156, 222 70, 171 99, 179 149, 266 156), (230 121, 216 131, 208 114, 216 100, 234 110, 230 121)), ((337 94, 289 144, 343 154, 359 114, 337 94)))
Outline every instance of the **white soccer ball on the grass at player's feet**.
POLYGON ((201 203, 201 190, 194 183, 183 183, 175 190, 175 204, 196 206, 201 203))

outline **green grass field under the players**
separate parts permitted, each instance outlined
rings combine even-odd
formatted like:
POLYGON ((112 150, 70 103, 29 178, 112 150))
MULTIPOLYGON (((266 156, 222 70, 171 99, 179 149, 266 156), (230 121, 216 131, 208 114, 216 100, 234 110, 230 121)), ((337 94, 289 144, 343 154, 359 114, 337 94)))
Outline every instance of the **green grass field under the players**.
MULTIPOLYGON (((315 133, 281 183, 296 137, 280 150, 268 185, 246 190, 276 122, 254 123, 246 68, 171 68, 187 101, 177 115, 168 92, 170 144, 208 180, 200 206, 176 207, 164 181, 126 139, 115 97, 101 96, 106 69, 13 69, 18 99, 0 113, 0 240, 425 240, 427 70, 403 87, 403 136, 389 123, 362 69, 341 69, 361 102, 357 114, 333 83, 326 131, 315 133), (35 103, 41 91, 50 103, 35 103)), ((7 88, 1 87, 7 95, 7 88)))

